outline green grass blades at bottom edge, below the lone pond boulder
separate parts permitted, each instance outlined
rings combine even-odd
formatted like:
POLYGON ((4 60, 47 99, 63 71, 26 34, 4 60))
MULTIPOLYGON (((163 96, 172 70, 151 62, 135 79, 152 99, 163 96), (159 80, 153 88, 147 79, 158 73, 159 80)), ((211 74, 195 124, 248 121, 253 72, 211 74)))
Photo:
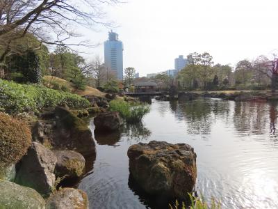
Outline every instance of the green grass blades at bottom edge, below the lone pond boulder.
MULTIPOLYGON (((211 204, 209 205, 204 201, 204 197, 201 196, 201 199, 193 196, 192 194, 188 194, 190 198, 190 206, 188 209, 220 209, 220 202, 216 202, 215 199, 211 199, 211 204)), ((181 206, 179 205, 179 201, 176 201, 174 203, 174 206, 170 205, 170 209, 187 209, 185 203, 181 203, 181 206)))

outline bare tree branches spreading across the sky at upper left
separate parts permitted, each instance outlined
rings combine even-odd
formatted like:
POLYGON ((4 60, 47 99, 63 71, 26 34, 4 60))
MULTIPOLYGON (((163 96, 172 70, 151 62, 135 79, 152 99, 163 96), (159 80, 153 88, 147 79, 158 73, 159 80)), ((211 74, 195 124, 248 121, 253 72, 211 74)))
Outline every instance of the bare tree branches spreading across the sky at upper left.
MULTIPOLYGON (((14 51, 14 42, 31 33, 42 43, 92 47, 88 42, 69 43, 76 25, 92 27, 104 21, 102 6, 117 0, 1 0, 0 1, 0 63, 14 51), (55 34, 51 39, 49 34, 55 34)), ((40 47, 40 45, 36 47, 40 47)))

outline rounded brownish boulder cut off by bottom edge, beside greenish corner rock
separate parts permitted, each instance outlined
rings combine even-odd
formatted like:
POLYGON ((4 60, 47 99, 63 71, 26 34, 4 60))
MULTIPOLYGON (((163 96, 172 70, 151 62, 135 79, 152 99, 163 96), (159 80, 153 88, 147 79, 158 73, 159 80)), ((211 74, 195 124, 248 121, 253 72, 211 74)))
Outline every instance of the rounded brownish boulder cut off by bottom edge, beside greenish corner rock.
POLYGON ((88 196, 80 189, 60 189, 47 200, 47 209, 87 209, 88 196))

